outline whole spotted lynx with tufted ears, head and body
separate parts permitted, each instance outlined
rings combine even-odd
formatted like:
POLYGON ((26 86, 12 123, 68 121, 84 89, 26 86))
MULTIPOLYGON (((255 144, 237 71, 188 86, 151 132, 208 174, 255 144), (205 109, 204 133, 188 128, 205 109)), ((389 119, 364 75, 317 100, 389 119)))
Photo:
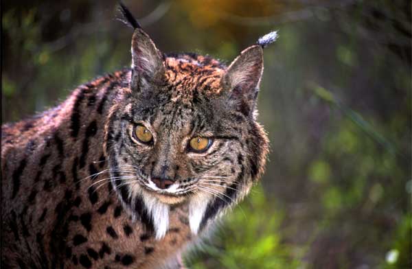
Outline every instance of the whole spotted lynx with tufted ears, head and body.
POLYGON ((161 53, 122 12, 131 69, 2 126, 4 268, 176 268, 263 171, 256 98, 276 34, 227 67, 161 53))

